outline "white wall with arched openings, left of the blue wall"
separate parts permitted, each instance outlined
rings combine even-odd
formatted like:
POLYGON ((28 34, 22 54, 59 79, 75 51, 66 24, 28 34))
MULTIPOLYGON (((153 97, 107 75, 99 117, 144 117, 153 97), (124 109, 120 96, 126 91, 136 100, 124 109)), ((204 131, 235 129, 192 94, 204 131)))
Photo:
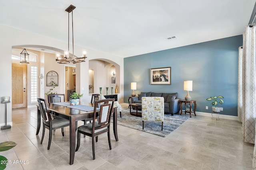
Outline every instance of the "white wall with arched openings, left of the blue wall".
MULTIPOLYGON (((48 37, 43 37, 40 35, 35 35, 32 33, 24 32, 18 29, 13 29, 10 27, 6 27, 4 25, 0 25, 0 47, 1 47, 1 56, 2 61, 0 62, 0 97, 2 96, 10 96, 12 101, 12 46, 15 45, 43 45, 48 47, 54 47, 58 49, 66 49, 67 42, 60 42, 54 39, 50 39, 48 37)), ((80 53, 86 47, 78 47, 74 46, 74 55, 80 56, 80 53)), ((106 54, 100 51, 94 51, 91 49, 87 50, 87 57, 85 63, 76 64, 76 91, 79 93, 83 93, 84 97, 81 98, 83 102, 90 102, 89 89, 88 89, 88 60, 89 59, 105 59, 109 61, 114 61, 115 63, 120 65, 120 85, 119 90, 121 92, 121 96, 119 98, 123 98, 123 82, 124 82, 124 59, 122 57, 117 57, 114 55, 106 54), (80 71, 82 74, 80 74, 80 71)), ((55 61, 55 56, 48 56, 52 58, 49 62, 46 62, 46 57, 44 56, 45 63, 40 63, 40 66, 44 65, 44 76, 46 75, 48 70, 57 69, 59 74, 59 84, 65 84, 64 64, 57 64, 55 61), (56 68, 58 67, 58 68, 56 68)), ((42 62, 42 61, 40 61, 42 62)), ((40 71, 42 71, 42 67, 40 67, 40 71)), ((45 82, 44 82, 45 83, 45 82)), ((42 87, 40 87, 42 88, 42 87)), ((60 87, 60 92, 64 92, 65 87, 60 87)), ((40 95, 41 96, 41 95, 40 95)), ((4 125, 5 116, 4 116, 5 107, 4 104, 0 103, 0 125, 4 125)), ((11 104, 7 106, 7 122, 12 123, 12 109, 11 104)))

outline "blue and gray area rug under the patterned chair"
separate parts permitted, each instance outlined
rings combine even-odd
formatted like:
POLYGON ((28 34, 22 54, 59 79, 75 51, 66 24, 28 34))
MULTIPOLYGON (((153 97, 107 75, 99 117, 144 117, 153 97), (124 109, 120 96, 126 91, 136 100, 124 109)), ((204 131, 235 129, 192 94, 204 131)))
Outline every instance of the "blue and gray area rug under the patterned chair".
POLYGON ((161 137, 166 137, 172 131, 182 125, 182 123, 184 123, 188 117, 176 114, 173 116, 171 114, 164 114, 163 131, 161 131, 161 122, 157 121, 144 121, 144 129, 142 129, 142 118, 130 115, 130 109, 122 109, 122 117, 118 116, 117 119, 118 125, 130 127, 132 129, 137 129, 147 133, 152 133, 161 137))

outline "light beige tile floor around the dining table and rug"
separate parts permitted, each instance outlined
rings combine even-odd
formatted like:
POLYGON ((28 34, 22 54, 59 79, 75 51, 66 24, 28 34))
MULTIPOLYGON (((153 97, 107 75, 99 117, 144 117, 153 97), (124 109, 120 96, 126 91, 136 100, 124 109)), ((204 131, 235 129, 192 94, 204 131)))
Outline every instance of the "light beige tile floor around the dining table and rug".
MULTIPOLYGON (((122 104, 127 108, 127 104, 122 104)), ((183 114, 184 115, 184 114, 183 114)), ((188 114, 186 116, 189 116, 188 114)), ((81 139, 73 165, 69 165, 69 128, 65 136, 56 130, 50 150, 48 130, 40 145, 36 135, 36 107, 12 110, 13 126, 0 131, 0 142, 14 141, 13 149, 0 152, 11 160, 6 170, 251 170, 254 145, 242 141, 242 124, 228 119, 194 116, 168 137, 159 137, 118 125, 116 142, 111 133, 112 150, 107 134, 96 143, 92 160, 91 139, 81 139), (15 164, 28 160, 28 164, 15 164)), ((79 125, 82 122, 79 122, 79 125)))

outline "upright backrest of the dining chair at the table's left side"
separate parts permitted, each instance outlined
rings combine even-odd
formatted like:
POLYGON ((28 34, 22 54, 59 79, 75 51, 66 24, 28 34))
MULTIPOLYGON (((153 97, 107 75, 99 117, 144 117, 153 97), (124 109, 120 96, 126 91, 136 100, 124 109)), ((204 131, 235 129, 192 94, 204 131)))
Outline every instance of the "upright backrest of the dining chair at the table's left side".
POLYGON ((42 121, 45 124, 52 124, 52 118, 50 116, 50 110, 48 109, 48 105, 46 104, 46 100, 42 98, 37 98, 40 113, 42 115, 42 121))

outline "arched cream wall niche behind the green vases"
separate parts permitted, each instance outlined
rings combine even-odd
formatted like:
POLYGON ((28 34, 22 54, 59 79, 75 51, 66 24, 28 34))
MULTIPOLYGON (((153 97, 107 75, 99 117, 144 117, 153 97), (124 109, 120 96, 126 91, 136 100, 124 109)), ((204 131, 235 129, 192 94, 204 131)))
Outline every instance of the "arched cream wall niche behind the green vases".
POLYGON ((116 84, 118 87, 120 85, 120 65, 108 59, 92 59, 89 60, 89 69, 94 71, 94 77, 90 77, 92 74, 89 74, 89 80, 93 82, 94 93, 99 94, 100 87, 102 87, 102 94, 106 94, 106 87, 108 87, 108 94, 111 94, 111 87, 113 87, 113 94, 115 94, 116 84), (115 83, 112 82, 113 72, 115 83))

